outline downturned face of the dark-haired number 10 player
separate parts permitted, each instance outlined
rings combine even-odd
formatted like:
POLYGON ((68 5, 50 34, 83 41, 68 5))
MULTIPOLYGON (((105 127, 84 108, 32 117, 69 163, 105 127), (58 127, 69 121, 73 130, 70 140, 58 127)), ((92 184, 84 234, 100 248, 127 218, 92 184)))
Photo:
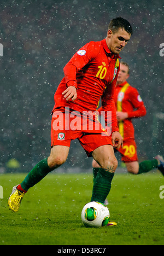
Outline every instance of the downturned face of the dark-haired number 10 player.
POLYGON ((118 32, 113 33, 111 30, 108 30, 107 34, 107 44, 114 54, 119 54, 122 49, 124 49, 128 40, 131 38, 131 34, 127 33, 124 29, 119 28, 118 32))

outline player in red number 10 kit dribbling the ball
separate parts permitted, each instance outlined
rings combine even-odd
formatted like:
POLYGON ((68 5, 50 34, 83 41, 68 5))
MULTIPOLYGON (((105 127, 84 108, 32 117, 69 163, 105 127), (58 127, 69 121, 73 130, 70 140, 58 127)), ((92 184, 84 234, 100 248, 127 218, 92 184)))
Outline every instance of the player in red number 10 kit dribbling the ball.
POLYGON ((91 201, 104 202, 118 166, 113 147, 119 149, 122 145, 114 102, 114 90, 119 73, 119 53, 130 40, 131 34, 130 23, 123 18, 115 18, 110 21, 105 39, 87 43, 67 63, 63 69, 65 77, 58 85, 54 97, 50 156, 40 161, 27 174, 24 181, 13 188, 8 201, 12 211, 19 210, 22 197, 28 189, 66 161, 70 143, 75 138, 78 138, 86 154, 92 156, 101 166, 93 184, 91 201), (103 110, 107 113, 106 125, 112 126, 111 137, 96 118, 95 112, 100 98, 103 110), (91 116, 87 117, 89 127, 84 130, 80 121, 85 112, 90 112, 91 116), (112 113, 109 122, 108 112, 112 113), (90 129, 90 119, 93 129, 90 129), (79 124, 78 129, 74 129, 75 123, 79 124), (97 125, 98 128, 95 129, 97 125))

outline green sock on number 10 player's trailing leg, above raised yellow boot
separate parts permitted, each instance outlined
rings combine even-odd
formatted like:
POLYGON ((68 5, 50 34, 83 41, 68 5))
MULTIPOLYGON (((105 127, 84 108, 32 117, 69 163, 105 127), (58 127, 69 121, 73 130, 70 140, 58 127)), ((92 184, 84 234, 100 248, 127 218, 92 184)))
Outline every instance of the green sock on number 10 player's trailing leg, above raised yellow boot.
POLYGON ((48 166, 48 158, 43 159, 40 161, 32 170, 29 172, 24 179, 24 181, 20 184, 21 188, 24 190, 28 190, 41 181, 46 174, 51 171, 50 167, 48 166))

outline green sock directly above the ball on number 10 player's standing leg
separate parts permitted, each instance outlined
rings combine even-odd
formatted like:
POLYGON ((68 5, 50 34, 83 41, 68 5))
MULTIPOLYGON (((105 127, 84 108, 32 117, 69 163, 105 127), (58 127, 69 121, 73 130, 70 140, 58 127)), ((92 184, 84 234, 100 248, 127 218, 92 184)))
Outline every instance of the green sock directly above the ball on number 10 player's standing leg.
POLYGON ((113 177, 114 173, 107 172, 103 168, 99 168, 99 172, 97 173, 97 177, 93 184, 91 202, 97 201, 104 203, 110 192, 113 177))

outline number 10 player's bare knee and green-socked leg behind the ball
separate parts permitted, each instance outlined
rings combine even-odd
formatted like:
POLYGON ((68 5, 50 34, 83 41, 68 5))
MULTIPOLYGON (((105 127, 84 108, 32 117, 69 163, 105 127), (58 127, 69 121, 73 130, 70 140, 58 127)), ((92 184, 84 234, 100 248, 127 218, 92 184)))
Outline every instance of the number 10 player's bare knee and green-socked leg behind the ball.
POLYGON ((111 145, 104 145, 95 149, 93 159, 101 166, 93 184, 91 201, 104 202, 110 192, 114 172, 118 167, 118 161, 111 145))

